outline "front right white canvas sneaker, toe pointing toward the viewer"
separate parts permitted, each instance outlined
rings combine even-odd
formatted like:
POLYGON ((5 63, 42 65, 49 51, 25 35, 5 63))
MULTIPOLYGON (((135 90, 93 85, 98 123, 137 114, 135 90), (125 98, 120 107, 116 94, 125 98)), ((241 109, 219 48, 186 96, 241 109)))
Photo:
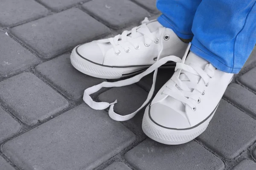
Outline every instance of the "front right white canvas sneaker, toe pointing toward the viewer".
POLYGON ((144 133, 163 144, 195 139, 207 128, 232 78, 190 52, 145 109, 144 133))

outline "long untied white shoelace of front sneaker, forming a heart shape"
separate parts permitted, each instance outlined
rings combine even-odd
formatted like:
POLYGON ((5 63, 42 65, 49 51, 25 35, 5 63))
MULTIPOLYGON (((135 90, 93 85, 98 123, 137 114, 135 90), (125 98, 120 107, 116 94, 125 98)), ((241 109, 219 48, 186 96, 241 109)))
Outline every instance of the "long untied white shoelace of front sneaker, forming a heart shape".
MULTIPOLYGON (((165 28, 161 28, 159 30, 161 35, 164 33, 164 29, 165 28)), ((209 82, 209 77, 214 76, 214 71, 213 71, 214 67, 212 65, 208 64, 206 69, 203 70, 202 68, 200 68, 196 65, 184 64, 186 56, 189 52, 191 43, 189 43, 189 46, 186 49, 186 52, 185 52, 182 60, 176 56, 168 56, 168 57, 163 57, 162 59, 159 59, 160 54, 163 51, 163 42, 162 41, 160 41, 160 45, 161 45, 161 49, 160 49, 158 57, 157 57, 157 62, 155 62, 153 65, 151 65, 146 71, 144 71, 143 73, 138 74, 134 77, 131 77, 129 79, 124 79, 124 80, 120 80, 117 82, 102 82, 99 85, 94 85, 90 88, 87 88, 84 91, 84 97, 83 97, 84 102, 87 103, 87 105, 89 105, 91 108, 93 108, 95 110, 104 110, 104 109, 110 107, 108 114, 112 119, 114 119, 116 121, 129 120, 132 117, 134 117, 136 115, 136 113, 138 111, 140 111, 145 105, 147 105, 147 103, 152 98, 153 93, 154 93, 158 68, 161 65, 165 64, 166 62, 173 61, 173 62, 177 62, 177 65, 175 67, 175 75, 172 77, 172 79, 170 80, 168 85, 166 85, 166 88, 164 89, 162 94, 166 95, 165 98, 168 96, 171 96, 174 99, 177 99, 180 102, 183 102, 184 105, 189 105, 189 107, 192 108, 192 110, 194 110, 195 106, 193 105, 191 100, 198 101, 198 98, 192 94, 192 90, 195 89, 195 90, 199 91, 201 94, 204 93, 204 87, 202 85, 198 85, 198 81, 199 81, 198 76, 201 77, 204 80, 205 85, 207 85, 209 82), (137 111, 135 111, 131 114, 122 116, 122 115, 115 113, 113 110, 113 107, 114 107, 114 104, 117 102, 117 100, 112 103, 94 102, 93 99, 90 97, 91 94, 96 93, 103 87, 105 87, 105 88, 122 87, 125 85, 131 85, 136 82, 139 82, 140 79, 142 79, 143 77, 145 77, 146 75, 150 74, 153 71, 154 71, 153 83, 152 83, 151 89, 148 93, 147 99, 145 100, 143 105, 137 109, 137 111), (183 79, 183 80, 181 80, 181 79, 183 79)))

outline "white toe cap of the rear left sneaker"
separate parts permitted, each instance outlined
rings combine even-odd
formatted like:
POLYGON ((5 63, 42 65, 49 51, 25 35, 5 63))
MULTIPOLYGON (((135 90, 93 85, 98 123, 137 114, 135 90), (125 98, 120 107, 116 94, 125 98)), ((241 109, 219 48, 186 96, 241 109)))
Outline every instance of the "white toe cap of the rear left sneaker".
POLYGON ((86 44, 79 45, 76 49, 77 54, 91 62, 98 64, 103 63, 103 53, 96 42, 88 42, 86 44))

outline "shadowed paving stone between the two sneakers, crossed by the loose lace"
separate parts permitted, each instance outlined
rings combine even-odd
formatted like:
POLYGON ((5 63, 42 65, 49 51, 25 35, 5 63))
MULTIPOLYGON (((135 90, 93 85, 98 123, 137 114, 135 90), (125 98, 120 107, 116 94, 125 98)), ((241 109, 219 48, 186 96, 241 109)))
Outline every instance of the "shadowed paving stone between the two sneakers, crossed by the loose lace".
MULTIPOLYGON (((160 88, 163 87, 163 85, 172 77, 173 74, 174 74, 174 68, 158 69, 154 94, 156 94, 160 90, 160 88)), ((143 89, 145 89, 146 91, 150 91, 152 81, 153 81, 153 73, 143 77, 137 84, 143 89)))

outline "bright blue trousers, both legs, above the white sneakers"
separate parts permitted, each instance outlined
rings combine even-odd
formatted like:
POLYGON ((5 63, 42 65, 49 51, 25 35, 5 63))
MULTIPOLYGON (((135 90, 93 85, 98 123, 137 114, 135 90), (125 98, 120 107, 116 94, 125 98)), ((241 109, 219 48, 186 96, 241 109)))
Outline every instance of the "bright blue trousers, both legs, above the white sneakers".
POLYGON ((157 0, 158 21, 191 39, 191 51, 238 73, 256 43, 256 0, 157 0))

